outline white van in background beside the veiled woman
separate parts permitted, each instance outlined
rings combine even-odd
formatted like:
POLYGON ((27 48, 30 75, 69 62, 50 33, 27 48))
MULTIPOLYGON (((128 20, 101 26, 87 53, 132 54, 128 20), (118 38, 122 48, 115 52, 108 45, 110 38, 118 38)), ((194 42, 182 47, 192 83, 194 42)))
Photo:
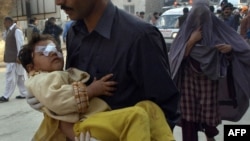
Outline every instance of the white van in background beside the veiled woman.
MULTIPOLYGON (((191 9, 191 6, 186 7, 188 7, 189 10, 191 9)), ((178 17, 183 15, 183 8, 184 7, 169 9, 165 11, 157 20, 156 27, 162 33, 168 50, 179 31, 179 28, 176 28, 175 25, 178 17)))

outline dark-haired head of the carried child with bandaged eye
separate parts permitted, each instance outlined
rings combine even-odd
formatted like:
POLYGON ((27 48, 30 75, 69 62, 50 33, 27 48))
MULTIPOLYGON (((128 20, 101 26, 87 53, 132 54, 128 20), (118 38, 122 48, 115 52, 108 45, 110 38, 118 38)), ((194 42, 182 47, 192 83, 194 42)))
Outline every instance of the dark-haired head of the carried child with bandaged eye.
POLYGON ((50 35, 34 35, 20 50, 18 59, 27 72, 62 70, 64 65, 57 42, 50 35))

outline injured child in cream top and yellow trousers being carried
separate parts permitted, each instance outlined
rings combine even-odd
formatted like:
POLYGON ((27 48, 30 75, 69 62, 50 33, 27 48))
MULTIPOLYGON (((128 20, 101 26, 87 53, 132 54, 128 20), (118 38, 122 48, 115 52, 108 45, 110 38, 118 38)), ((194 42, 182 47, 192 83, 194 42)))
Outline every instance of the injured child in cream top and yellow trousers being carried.
POLYGON ((100 95, 111 96, 112 74, 86 86, 89 74, 75 68, 63 70, 63 56, 49 35, 36 35, 20 51, 19 60, 29 74, 28 91, 43 105, 44 120, 35 141, 74 140, 89 131, 97 139, 150 141, 174 140, 161 109, 150 101, 110 110, 100 95))

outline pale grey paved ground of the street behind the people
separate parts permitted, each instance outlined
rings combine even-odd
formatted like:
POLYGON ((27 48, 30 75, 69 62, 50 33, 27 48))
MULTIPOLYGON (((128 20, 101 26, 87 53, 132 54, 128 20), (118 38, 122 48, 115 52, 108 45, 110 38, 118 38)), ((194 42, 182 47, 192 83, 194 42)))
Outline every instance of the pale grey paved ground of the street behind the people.
MULTIPOLYGON (((0 95, 2 95, 5 86, 4 71, 5 68, 0 67, 0 95)), ((15 99, 17 95, 16 89, 9 102, 0 103, 0 141, 30 141, 42 120, 42 113, 30 108, 26 100, 15 99)), ((240 122, 223 122, 218 127, 220 134, 216 136, 217 141, 223 141, 224 124, 250 124, 250 109, 240 122)), ((181 128, 176 127, 174 135, 177 141, 182 141, 181 128)), ((206 141, 202 133, 199 134, 199 139, 206 141)))

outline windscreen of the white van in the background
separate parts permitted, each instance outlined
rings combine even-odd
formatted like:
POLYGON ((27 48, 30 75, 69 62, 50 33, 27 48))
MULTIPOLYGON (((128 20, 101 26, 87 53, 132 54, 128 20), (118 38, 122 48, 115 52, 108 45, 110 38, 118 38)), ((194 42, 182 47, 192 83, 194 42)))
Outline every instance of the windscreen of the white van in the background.
POLYGON ((180 15, 163 15, 158 19, 156 27, 162 29, 173 29, 175 28, 175 24, 179 16, 180 15))

